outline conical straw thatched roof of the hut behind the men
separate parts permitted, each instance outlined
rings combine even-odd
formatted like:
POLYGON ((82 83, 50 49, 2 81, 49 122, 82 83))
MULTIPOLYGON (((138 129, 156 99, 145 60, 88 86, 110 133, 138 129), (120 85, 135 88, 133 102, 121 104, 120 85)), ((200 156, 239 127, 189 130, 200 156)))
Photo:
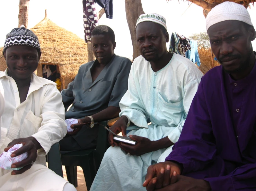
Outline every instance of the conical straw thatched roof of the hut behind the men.
MULTIPOLYGON (((59 66, 62 78, 74 78, 81 64, 88 61, 87 43, 76 34, 50 21, 46 11, 45 18, 30 30, 38 37, 42 49, 39 64, 59 66)), ((0 70, 3 68, 6 69, 6 64, 0 56, 0 70)))

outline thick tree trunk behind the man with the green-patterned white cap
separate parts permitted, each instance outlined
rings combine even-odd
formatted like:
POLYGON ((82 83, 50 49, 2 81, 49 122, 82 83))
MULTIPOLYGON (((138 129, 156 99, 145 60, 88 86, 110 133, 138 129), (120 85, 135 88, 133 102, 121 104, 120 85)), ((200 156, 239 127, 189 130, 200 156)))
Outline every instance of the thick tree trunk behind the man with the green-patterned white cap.
POLYGON ((128 23, 128 27, 131 33, 132 38, 132 48, 133 48, 133 60, 140 56, 140 51, 137 47, 136 40, 136 30, 135 25, 141 14, 144 14, 141 0, 125 0, 125 12, 126 12, 126 20, 128 23))

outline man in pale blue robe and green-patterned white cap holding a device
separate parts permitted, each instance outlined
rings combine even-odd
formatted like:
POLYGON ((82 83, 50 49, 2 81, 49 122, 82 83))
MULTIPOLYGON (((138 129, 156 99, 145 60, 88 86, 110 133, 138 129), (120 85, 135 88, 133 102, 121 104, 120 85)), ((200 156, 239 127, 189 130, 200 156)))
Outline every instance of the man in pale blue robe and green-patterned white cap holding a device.
POLYGON ((138 143, 117 143, 109 134, 114 147, 106 151, 91 191, 145 190, 142 183, 147 168, 164 161, 178 141, 203 76, 190 60, 167 51, 164 17, 141 15, 136 38, 142 56, 134 59, 128 90, 120 102, 120 119, 111 130, 123 136, 127 132, 138 143))

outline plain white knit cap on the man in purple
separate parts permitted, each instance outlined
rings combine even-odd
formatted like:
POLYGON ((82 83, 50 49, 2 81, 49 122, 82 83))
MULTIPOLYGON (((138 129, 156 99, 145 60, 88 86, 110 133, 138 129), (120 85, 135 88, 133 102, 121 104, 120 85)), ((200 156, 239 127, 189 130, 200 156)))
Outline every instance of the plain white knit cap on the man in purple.
POLYGON ((242 21, 253 26, 249 12, 244 6, 226 1, 218 4, 208 13, 206 17, 206 31, 208 31, 213 24, 227 20, 242 21))

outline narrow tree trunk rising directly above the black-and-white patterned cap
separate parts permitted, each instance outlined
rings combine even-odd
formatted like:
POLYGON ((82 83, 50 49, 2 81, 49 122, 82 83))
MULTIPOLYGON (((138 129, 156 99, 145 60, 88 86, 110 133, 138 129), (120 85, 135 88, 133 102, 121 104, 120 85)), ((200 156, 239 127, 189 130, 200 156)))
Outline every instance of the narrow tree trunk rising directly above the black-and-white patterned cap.
POLYGON ((19 1, 18 27, 20 27, 21 25, 24 25, 26 28, 28 27, 28 5, 29 5, 29 0, 19 1))

